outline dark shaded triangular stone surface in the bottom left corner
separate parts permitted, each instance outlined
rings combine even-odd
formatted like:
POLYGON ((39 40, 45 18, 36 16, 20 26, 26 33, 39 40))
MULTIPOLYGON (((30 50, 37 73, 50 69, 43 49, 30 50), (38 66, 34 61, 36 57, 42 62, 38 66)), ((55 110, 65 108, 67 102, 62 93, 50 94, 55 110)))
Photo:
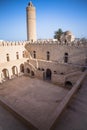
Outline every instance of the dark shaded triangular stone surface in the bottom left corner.
POLYGON ((0 130, 30 130, 0 105, 0 130))

